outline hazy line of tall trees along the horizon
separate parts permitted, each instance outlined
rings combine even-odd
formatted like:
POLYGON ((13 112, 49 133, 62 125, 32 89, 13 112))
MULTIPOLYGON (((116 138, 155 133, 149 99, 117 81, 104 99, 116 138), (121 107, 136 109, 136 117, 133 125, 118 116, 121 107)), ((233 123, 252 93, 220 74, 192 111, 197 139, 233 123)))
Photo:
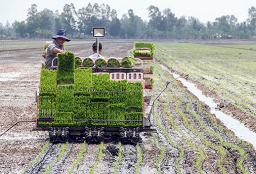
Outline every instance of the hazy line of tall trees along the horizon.
POLYGON ((36 4, 31 4, 25 21, 0 23, 0 38, 51 38, 59 29, 66 29, 70 38, 92 38, 93 26, 104 26, 106 38, 117 39, 250 39, 256 35, 253 6, 246 21, 237 22, 234 15, 226 15, 207 24, 192 16, 176 17, 170 8, 159 11, 151 5, 147 10, 149 21, 143 21, 131 9, 118 19, 117 11, 104 3, 89 3, 78 10, 73 3, 65 4, 62 13, 47 8, 38 12, 36 4))

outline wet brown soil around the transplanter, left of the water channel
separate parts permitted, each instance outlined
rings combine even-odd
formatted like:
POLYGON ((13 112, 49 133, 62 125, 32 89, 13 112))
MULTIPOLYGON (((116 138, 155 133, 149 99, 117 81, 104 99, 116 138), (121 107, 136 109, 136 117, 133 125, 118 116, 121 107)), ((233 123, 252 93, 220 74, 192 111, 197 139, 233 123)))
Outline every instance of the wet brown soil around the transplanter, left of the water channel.
MULTIPOLYGON (((103 56, 105 57, 125 57, 126 52, 132 49, 133 42, 106 42, 103 43, 103 56)), ((68 45, 68 50, 75 53, 76 56, 87 57, 92 54, 91 44, 84 45, 68 45)), ((13 124, 19 121, 35 121, 36 118, 36 102, 35 91, 39 85, 40 68, 43 58, 40 56, 42 48, 24 49, 13 51, 0 51, 0 134, 9 129, 13 124)), ((154 61, 157 63, 157 61, 154 61)), ((156 76, 171 76, 167 72, 156 68, 156 76)), ((155 89, 150 93, 154 97, 162 90, 162 82, 156 79, 155 89)), ((157 133, 152 135, 141 133, 142 142, 140 143, 143 160, 140 163, 139 173, 243 173, 243 168, 237 163, 240 160, 239 151, 234 146, 223 145, 225 150, 225 160, 222 162, 222 169, 218 166, 221 159, 220 151, 215 148, 222 141, 236 144, 245 150, 246 158, 243 161, 243 167, 249 173, 256 172, 256 152, 252 145, 246 145, 243 141, 235 138, 234 134, 227 130, 220 121, 217 123, 223 127, 216 126, 213 120, 207 116, 209 107, 193 100, 190 103, 190 109, 195 111, 208 130, 216 132, 220 136, 217 138, 208 131, 205 131, 198 120, 188 113, 187 107, 190 102, 189 95, 196 98, 193 94, 178 84, 180 88, 171 85, 168 90, 174 98, 182 95, 186 102, 179 104, 179 111, 175 112, 177 103, 170 99, 168 93, 163 93, 163 99, 156 101, 154 108, 154 123, 157 133), (186 93, 184 92, 186 91, 186 93), (169 100, 170 99, 170 100, 169 100), (168 102, 168 103, 167 103, 168 102), (201 111, 202 104, 203 111, 201 111), (171 125, 170 116, 165 110, 170 111, 175 126, 171 125), (206 113, 205 113, 206 112, 206 113), (158 120, 157 120, 158 118, 158 120), (189 122, 189 127, 186 121, 189 122), (181 133, 182 132, 182 133, 181 133), (204 139, 202 138, 204 137, 204 139), (222 140, 221 140, 222 139, 222 140), (211 143, 211 145, 207 144, 211 143), (157 143, 157 144, 155 144, 157 143), (196 166, 196 161, 200 158, 200 149, 204 152, 204 158, 196 166), (159 159, 161 149, 164 149, 163 158, 159 159), (159 161, 159 163, 157 162, 159 161), (158 163, 158 166, 156 166, 158 163)), ((203 85, 198 85, 203 89, 205 95, 214 97, 220 103, 222 102, 218 96, 211 94, 211 91, 205 89, 203 85)), ((239 111, 235 108, 229 108, 229 112, 239 116, 239 111)), ((214 116, 213 116, 214 117, 214 116)), ((0 136, 0 173, 21 173, 29 167, 30 162, 34 161, 41 152, 43 146, 48 141, 48 132, 31 131, 35 126, 34 122, 21 122, 12 127, 4 135, 0 136)), ((81 161, 76 165, 74 173, 89 173, 93 164, 97 164, 94 173, 113 173, 115 170, 115 162, 118 160, 117 155, 111 154, 104 144, 102 159, 97 161, 99 145, 86 144, 85 152, 81 161)), ((114 144, 117 146, 117 144, 114 144)), ((67 144, 65 153, 56 163, 53 164, 50 173, 68 173, 72 167, 72 163, 77 160, 82 144, 67 144)), ((47 170, 49 163, 54 162, 61 152, 61 144, 50 144, 45 152, 40 156, 38 161, 31 164, 25 173, 42 173, 47 170)), ((139 160, 138 149, 134 145, 122 145, 122 160, 116 169, 117 173, 135 173, 136 164, 139 160)))

